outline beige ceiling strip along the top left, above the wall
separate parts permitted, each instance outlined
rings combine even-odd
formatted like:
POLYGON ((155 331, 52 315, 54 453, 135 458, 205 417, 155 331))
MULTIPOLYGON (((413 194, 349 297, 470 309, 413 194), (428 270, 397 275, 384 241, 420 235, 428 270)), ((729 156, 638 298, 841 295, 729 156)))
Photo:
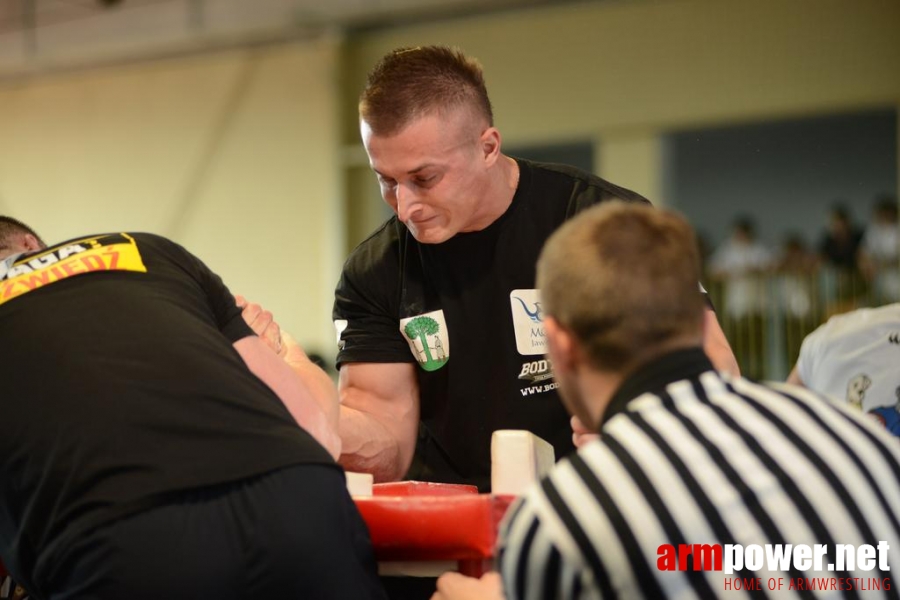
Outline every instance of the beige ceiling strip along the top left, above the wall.
POLYGON ((0 0, 0 75, 561 1, 0 0))

